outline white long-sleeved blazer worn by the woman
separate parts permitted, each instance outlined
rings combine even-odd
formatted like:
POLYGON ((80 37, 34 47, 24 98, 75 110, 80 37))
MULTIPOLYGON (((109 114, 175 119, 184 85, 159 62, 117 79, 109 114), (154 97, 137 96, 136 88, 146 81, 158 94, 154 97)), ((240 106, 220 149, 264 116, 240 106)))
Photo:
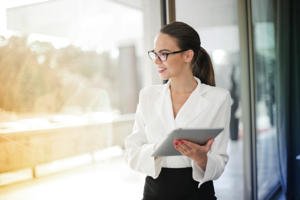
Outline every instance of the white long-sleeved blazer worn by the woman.
POLYGON ((140 91, 139 103, 131 135, 125 139, 125 162, 137 172, 157 178, 161 167, 193 168, 193 179, 202 183, 217 180, 223 173, 229 156, 226 152, 229 139, 231 97, 229 91, 198 82, 196 89, 183 104, 174 119, 170 93, 170 79, 166 84, 149 85, 140 91), (207 153, 204 171, 187 156, 154 157, 156 143, 168 133, 184 127, 224 127, 207 153))

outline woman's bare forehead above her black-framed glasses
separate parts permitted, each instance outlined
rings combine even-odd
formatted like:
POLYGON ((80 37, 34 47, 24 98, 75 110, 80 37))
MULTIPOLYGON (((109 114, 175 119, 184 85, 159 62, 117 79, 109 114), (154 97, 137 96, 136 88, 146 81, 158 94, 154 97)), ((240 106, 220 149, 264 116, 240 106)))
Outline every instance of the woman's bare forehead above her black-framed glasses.
POLYGON ((179 47, 177 46, 174 38, 170 37, 167 34, 159 33, 155 37, 153 50, 155 50, 155 52, 159 52, 162 49, 176 51, 179 49, 179 47))

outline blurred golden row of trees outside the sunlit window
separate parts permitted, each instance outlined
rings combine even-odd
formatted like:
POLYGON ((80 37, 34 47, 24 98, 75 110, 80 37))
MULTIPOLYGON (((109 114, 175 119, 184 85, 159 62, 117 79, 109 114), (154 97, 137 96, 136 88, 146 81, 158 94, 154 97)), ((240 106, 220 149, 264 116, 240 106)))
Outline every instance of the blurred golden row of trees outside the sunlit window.
POLYGON ((97 54, 69 45, 55 49, 50 42, 27 43, 28 36, 0 36, 0 108, 34 112, 34 102, 60 86, 59 73, 70 71, 88 78, 88 87, 108 91, 112 107, 117 107, 117 62, 109 52, 97 54))

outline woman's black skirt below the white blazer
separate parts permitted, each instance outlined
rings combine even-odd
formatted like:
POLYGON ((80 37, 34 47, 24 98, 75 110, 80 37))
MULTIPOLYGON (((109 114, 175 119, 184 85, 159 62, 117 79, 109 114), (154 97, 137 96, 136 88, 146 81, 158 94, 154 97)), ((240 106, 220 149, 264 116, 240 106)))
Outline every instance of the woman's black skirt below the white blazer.
POLYGON ((161 168, 156 179, 146 176, 142 200, 215 200, 214 184, 204 182, 198 188, 199 182, 193 179, 192 167, 161 168))

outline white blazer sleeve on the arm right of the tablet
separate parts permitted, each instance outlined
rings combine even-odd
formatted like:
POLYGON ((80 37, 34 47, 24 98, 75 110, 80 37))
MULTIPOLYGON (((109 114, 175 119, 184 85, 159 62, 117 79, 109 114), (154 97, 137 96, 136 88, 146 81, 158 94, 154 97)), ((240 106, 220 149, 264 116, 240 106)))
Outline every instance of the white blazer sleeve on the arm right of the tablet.
POLYGON ((193 179, 199 181, 199 188, 202 183, 210 180, 217 180, 223 173, 229 156, 227 145, 229 139, 229 122, 231 113, 231 96, 229 91, 223 100, 220 110, 214 119, 211 127, 224 127, 224 130, 214 139, 210 151, 207 153, 206 170, 191 161, 193 168, 193 179))

